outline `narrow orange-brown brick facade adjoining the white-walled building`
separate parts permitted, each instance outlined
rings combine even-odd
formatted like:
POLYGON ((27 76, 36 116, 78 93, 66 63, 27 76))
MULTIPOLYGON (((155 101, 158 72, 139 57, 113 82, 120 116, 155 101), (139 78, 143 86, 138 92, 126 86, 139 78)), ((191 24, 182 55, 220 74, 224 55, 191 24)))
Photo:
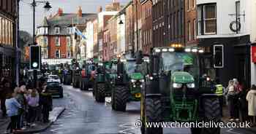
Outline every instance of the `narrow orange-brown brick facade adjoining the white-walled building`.
POLYGON ((197 6, 196 0, 186 0, 185 6, 186 46, 197 45, 197 6))

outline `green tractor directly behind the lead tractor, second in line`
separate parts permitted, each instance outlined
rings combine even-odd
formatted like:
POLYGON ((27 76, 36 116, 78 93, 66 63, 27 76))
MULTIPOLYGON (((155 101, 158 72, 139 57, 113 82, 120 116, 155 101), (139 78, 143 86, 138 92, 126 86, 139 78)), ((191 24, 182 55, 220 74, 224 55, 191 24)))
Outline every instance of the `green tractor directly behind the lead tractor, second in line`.
POLYGON ((110 82, 112 109, 126 111, 128 101, 140 101, 144 77, 135 58, 118 59, 116 70, 117 75, 110 82))

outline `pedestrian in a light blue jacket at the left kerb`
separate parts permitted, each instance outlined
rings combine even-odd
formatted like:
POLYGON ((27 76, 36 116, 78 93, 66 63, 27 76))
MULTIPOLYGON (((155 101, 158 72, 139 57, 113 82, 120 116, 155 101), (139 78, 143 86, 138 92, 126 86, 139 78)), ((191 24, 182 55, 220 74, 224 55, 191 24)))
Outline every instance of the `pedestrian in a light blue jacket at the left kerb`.
POLYGON ((14 93, 7 95, 5 105, 7 106, 7 115, 11 120, 5 133, 8 133, 8 130, 10 130, 10 133, 13 133, 17 129, 18 125, 18 111, 19 109, 22 109, 22 107, 16 100, 14 93))

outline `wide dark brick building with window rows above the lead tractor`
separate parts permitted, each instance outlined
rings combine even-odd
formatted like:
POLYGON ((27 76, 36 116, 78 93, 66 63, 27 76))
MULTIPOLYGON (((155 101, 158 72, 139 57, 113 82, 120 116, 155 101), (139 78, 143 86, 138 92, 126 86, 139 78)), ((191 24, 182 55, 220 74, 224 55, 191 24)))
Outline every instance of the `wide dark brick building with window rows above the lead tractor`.
POLYGON ((153 1, 154 47, 185 44, 184 1, 153 1))

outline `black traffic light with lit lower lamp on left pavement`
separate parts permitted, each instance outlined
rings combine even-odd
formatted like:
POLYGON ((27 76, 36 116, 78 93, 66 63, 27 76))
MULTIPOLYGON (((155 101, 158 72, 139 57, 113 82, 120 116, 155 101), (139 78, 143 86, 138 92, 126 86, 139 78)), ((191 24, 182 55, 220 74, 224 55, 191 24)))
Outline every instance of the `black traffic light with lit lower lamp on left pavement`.
POLYGON ((39 70, 41 66, 41 47, 30 46, 29 66, 32 70, 39 70))

